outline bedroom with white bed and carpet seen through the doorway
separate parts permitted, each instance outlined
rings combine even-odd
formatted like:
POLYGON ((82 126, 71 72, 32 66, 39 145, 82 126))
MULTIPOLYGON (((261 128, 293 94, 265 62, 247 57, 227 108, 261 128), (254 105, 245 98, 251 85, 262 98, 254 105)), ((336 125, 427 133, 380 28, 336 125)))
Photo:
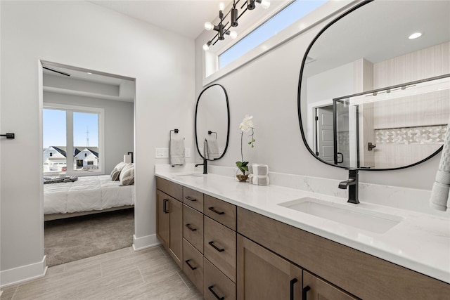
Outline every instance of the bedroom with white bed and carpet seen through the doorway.
MULTIPOLYGON (((117 163, 122 162, 121 167, 124 162, 131 163, 134 89, 134 80, 124 77, 43 65, 44 249, 48 266, 131 246, 134 177, 133 182, 125 182, 120 181, 120 173, 115 178, 109 174, 117 163), (122 209, 126 210, 119 211, 122 209), (107 211, 115 212, 97 215, 107 211), (113 223, 122 226, 112 228, 113 223), (101 236, 103 242, 96 242, 95 236, 101 236)), ((134 175, 134 169, 129 171, 134 175)))

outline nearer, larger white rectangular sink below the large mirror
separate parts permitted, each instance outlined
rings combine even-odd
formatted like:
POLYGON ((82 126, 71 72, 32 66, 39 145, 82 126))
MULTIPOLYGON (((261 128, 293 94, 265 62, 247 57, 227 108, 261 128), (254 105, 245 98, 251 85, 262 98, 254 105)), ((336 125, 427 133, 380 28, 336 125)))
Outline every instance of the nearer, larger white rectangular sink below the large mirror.
POLYGON ((400 216, 357 207, 358 204, 349 206, 311 197, 283 202, 278 205, 373 233, 386 233, 387 230, 390 230, 403 220, 400 216))

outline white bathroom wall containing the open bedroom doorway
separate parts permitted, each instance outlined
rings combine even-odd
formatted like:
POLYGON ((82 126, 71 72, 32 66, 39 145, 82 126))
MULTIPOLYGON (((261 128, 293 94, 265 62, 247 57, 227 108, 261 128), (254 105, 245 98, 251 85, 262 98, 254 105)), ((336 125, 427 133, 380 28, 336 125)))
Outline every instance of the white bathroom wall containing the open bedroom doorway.
POLYGON ((0 130, 16 134, 0 144, 1 285, 44 264, 39 60, 136 78, 135 244, 156 242, 154 149, 167 147, 174 128, 193 145, 193 41, 86 1, 0 1, 0 9, 0 130))

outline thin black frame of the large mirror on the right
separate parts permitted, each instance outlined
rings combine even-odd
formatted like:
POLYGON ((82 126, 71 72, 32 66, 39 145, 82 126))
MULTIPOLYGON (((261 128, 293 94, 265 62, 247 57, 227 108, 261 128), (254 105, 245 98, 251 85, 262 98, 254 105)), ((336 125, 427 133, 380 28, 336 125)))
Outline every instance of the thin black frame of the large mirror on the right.
MULTIPOLYGON (((323 32, 325 32, 326 30, 328 30, 329 27, 331 27, 331 25, 335 24, 335 22, 338 22, 338 20, 345 18, 345 16, 347 16, 349 13, 352 13, 353 11, 356 11, 356 9, 361 8, 361 6, 364 6, 366 4, 370 4, 371 2, 373 2, 374 0, 365 0, 362 1, 360 4, 356 4, 355 6, 353 6, 352 8, 349 8, 348 11, 345 11, 344 13, 338 15, 337 18, 331 20, 325 27, 323 27, 321 29, 321 31, 316 34, 316 37, 314 37, 314 39, 312 39, 311 43, 309 44, 307 50, 304 53, 303 59, 302 59, 302 67, 300 68, 300 77, 298 80, 298 89, 297 89, 297 111, 298 111, 298 119, 299 119, 299 124, 300 124, 300 132, 302 133, 302 140, 303 143, 305 145, 305 147, 307 148, 307 150, 309 151, 309 153, 311 153, 312 156, 314 156, 314 158, 316 158, 317 160, 319 160, 319 162, 322 162, 323 164, 328 164, 329 166, 332 167, 337 167, 340 169, 349 169, 348 167, 343 167, 343 166, 338 166, 335 164, 330 164, 328 162, 323 161, 322 159, 320 159, 313 150, 311 150, 311 147, 309 147, 308 141, 307 141, 307 136, 304 133, 304 129, 303 129, 303 123, 302 123, 302 109, 301 109, 301 104, 300 101, 301 99, 301 94, 302 94, 302 77, 303 77, 303 71, 304 71, 304 66, 307 60, 307 56, 309 54, 309 51, 311 51, 312 46, 314 46, 314 43, 317 41, 317 39, 319 39, 319 37, 321 37, 321 35, 323 34, 323 32)), ((449 126, 449 124, 447 124, 447 126, 449 126)), ((390 171, 390 170, 399 170, 399 169, 406 169, 409 167, 413 167, 416 166, 417 164, 421 164, 423 162, 426 162, 428 159, 431 159, 432 157, 434 157, 435 155, 437 155, 442 148, 444 147, 444 145, 442 145, 441 147, 439 147, 434 153, 432 153, 431 155, 429 155, 428 157, 425 157, 425 159, 420 160, 419 162, 415 162, 413 164, 408 164, 406 166, 402 166, 402 167, 394 167, 394 168, 387 168, 387 169, 366 169, 366 168, 352 168, 352 169, 359 169, 362 171, 390 171)))

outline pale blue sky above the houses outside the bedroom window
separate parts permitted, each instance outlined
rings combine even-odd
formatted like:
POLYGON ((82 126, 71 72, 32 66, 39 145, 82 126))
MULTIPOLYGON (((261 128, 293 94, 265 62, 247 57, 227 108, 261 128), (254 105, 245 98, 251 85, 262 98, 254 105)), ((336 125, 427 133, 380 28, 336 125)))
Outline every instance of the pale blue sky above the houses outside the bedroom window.
MULTIPOLYGON (((66 146, 64 110, 44 109, 42 115, 43 147, 66 146)), ((89 129, 89 146, 98 147, 98 115, 86 112, 73 113, 74 145, 86 146, 86 130, 89 129)))

